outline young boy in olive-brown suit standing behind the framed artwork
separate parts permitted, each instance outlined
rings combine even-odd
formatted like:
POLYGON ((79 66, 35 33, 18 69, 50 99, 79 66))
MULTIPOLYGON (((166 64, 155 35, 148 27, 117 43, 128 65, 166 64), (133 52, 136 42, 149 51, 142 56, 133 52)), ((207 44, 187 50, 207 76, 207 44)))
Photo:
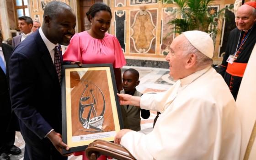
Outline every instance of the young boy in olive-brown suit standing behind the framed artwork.
MULTIPOLYGON (((123 73, 123 90, 120 93, 126 93, 132 96, 142 96, 142 93, 136 90, 139 85, 139 72, 135 69, 127 69, 123 73)), ((148 110, 140 109, 136 106, 121 106, 124 128, 134 131, 140 130, 140 115, 144 119, 149 118, 148 110), (141 112, 140 112, 141 111, 141 112)))

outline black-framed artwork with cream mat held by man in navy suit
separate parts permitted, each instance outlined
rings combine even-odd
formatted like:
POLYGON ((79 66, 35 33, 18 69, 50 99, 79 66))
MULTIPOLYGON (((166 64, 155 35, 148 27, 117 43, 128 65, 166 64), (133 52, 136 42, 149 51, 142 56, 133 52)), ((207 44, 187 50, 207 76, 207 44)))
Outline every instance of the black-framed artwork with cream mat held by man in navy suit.
POLYGON ((63 153, 85 150, 96 139, 113 141, 123 129, 112 64, 63 65, 63 153))

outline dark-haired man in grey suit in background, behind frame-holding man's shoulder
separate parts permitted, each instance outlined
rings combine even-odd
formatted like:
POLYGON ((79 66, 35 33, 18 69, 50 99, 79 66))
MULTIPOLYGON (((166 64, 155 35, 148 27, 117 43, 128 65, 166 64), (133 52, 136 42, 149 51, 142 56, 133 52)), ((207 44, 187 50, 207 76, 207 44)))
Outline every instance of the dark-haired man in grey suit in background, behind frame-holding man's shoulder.
POLYGON ((12 46, 16 47, 20 44, 26 37, 31 35, 33 27, 33 20, 29 16, 20 16, 18 18, 19 29, 21 30, 21 35, 12 38, 12 46))

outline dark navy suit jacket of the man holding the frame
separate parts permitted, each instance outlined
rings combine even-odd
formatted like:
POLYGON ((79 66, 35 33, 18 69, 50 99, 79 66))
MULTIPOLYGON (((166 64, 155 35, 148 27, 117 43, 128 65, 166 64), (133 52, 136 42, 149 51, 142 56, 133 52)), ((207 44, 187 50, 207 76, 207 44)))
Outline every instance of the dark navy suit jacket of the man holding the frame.
POLYGON ((27 37, 12 53, 11 107, 27 143, 43 139, 54 129, 61 133, 61 88, 50 53, 39 32, 27 37))

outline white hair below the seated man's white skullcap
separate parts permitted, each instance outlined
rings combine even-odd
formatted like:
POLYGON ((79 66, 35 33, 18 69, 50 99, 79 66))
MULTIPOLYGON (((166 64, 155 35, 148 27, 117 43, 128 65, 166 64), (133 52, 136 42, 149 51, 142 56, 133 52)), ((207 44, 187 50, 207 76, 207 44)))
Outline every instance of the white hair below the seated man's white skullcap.
MULTIPOLYGON (((184 36, 185 37, 185 36, 184 36)), ((213 64, 213 59, 210 59, 200 51, 198 51, 197 48, 195 48, 186 38, 186 41, 184 41, 181 44, 181 48, 183 48, 183 56, 188 55, 189 53, 194 53, 197 57, 197 65, 198 66, 207 66, 213 64)))

